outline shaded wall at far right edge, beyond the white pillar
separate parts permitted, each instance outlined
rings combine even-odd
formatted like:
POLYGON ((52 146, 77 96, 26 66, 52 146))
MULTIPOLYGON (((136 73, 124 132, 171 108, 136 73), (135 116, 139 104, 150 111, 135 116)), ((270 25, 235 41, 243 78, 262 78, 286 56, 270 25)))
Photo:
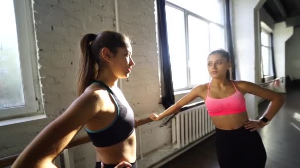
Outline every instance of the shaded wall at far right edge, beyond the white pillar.
POLYGON ((300 79, 300 27, 294 28, 294 34, 286 42, 286 75, 300 79))

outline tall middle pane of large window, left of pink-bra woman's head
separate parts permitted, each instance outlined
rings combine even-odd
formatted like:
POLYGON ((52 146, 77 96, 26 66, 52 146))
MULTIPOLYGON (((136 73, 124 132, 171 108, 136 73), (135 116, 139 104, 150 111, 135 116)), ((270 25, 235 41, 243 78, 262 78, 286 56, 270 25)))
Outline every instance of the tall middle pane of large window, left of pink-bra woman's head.
POLYGON ((203 84, 208 81, 207 56, 209 54, 208 24, 193 16, 188 16, 188 47, 190 83, 203 84))

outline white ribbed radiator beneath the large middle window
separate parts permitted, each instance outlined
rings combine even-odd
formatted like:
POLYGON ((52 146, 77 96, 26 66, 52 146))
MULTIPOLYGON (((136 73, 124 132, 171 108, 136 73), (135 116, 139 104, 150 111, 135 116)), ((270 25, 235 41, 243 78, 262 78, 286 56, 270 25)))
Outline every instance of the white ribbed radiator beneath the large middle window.
POLYGON ((173 147, 181 149, 214 130, 215 126, 204 104, 180 112, 172 118, 173 147))

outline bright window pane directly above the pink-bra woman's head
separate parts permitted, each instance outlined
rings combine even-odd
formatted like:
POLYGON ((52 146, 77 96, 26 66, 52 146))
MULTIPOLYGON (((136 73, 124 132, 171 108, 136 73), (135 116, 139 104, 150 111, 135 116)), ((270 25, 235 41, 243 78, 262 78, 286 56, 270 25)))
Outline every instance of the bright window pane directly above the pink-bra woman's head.
POLYGON ((225 49, 224 28, 215 24, 209 24, 210 51, 225 49))

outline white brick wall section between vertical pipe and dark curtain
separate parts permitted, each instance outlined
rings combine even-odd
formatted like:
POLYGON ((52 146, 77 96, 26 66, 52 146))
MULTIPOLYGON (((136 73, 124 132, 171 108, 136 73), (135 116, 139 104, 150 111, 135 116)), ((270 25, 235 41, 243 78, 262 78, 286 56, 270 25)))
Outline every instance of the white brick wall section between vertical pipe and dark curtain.
MULTIPOLYGON (((160 86, 154 0, 118 0, 118 5, 120 32, 131 38, 133 59, 136 62, 128 80, 123 80, 123 90, 136 116, 143 118, 150 112, 162 111, 158 104, 160 86)), ((160 128, 158 125, 151 123, 142 127, 142 143, 138 144, 138 148, 142 147, 144 155, 171 143, 170 128, 160 128)))

